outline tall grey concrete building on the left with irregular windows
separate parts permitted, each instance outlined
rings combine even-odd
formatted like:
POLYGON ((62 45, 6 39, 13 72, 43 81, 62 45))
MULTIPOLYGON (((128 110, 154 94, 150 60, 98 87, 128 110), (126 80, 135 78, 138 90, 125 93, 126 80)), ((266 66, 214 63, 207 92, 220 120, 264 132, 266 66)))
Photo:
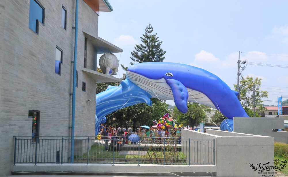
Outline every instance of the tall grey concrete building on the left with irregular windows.
POLYGON ((123 51, 98 37, 99 11, 113 8, 79 0, 75 20, 76 1, 0 1, 0 176, 10 175, 13 136, 32 146, 35 136, 71 136, 73 95, 74 136, 94 136, 96 82, 121 81, 96 72, 97 54, 123 51))

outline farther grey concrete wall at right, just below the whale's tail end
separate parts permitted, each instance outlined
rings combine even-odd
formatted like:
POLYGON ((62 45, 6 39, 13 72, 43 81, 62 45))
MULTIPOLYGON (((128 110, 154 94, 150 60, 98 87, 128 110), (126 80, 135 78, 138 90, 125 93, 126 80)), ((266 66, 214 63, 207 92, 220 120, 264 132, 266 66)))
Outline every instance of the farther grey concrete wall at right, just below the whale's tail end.
POLYGON ((234 117, 233 122, 235 132, 273 136, 276 142, 288 143, 288 132, 273 132, 273 129, 284 129, 284 117, 234 117))

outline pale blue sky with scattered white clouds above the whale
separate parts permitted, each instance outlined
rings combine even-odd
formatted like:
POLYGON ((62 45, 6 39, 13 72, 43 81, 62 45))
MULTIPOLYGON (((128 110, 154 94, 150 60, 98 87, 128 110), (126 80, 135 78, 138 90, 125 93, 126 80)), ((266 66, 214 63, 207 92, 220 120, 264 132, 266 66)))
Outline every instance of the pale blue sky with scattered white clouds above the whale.
MULTIPOLYGON (((123 49, 114 53, 130 66, 131 52, 141 43, 149 23, 166 51, 164 62, 205 69, 233 88, 240 60, 248 61, 242 76, 262 78, 268 91, 264 104, 288 99, 288 68, 255 66, 249 62, 288 66, 288 1, 109 0, 112 12, 100 12, 98 36, 123 49)), ((101 54, 99 55, 99 57, 101 54)), ((243 66, 243 65, 242 65, 243 66)), ((119 67, 118 78, 125 71, 119 67)), ((173 101, 168 101, 174 105, 173 101)))

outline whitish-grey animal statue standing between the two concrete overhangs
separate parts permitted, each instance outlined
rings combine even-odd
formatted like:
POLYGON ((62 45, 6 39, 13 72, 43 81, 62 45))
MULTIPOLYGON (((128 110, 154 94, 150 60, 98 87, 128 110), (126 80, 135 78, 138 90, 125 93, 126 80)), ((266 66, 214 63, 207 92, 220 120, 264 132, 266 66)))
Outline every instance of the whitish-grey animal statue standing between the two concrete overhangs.
POLYGON ((119 60, 113 53, 104 53, 99 59, 99 66, 103 74, 117 75, 119 60), (109 74, 110 69, 111 74, 109 74))

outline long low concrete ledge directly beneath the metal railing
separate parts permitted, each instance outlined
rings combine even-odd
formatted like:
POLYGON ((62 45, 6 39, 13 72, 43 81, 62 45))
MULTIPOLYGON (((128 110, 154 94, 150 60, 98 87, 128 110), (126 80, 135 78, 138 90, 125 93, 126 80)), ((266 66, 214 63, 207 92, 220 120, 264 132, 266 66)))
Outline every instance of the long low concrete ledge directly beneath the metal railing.
POLYGON ((11 166, 12 173, 27 172, 149 172, 149 173, 179 173, 179 172, 211 172, 215 173, 217 167, 213 165, 150 165, 150 164, 89 164, 86 163, 65 163, 60 164, 16 164, 11 166))

